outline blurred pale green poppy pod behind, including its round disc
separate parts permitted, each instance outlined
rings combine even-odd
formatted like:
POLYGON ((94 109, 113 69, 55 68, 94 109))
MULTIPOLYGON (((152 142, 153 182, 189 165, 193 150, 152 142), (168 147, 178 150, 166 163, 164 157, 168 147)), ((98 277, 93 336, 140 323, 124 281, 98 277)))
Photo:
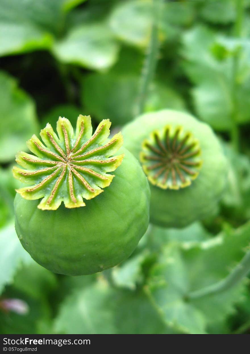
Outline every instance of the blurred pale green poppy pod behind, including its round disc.
POLYGON ((150 182, 152 223, 180 228, 213 215, 227 164, 207 124, 187 113, 161 110, 127 124, 123 136, 150 182))

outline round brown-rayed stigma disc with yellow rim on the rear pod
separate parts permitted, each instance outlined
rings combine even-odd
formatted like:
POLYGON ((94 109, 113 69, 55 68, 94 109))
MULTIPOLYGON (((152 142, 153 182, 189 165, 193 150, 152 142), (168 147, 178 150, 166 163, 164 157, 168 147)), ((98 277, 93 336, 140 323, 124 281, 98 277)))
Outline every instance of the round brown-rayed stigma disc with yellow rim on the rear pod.
POLYGON ((144 140, 140 160, 149 181, 162 189, 188 187, 202 166, 198 140, 182 127, 169 125, 144 140))

